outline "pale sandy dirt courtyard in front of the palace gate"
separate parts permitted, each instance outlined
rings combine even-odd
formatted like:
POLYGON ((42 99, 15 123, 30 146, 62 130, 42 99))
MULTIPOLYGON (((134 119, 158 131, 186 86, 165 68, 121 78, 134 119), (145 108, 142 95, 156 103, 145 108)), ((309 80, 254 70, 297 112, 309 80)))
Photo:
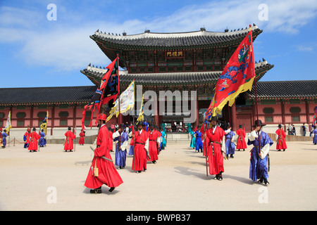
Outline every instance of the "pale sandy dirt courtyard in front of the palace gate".
MULTIPOLYGON (((288 142, 271 146, 269 186, 249 179, 251 146, 224 161, 223 181, 206 176, 205 158, 186 142, 168 142, 147 172, 132 171, 132 156, 118 172, 123 184, 113 193, 91 194, 84 186, 93 153, 49 144, 30 153, 18 144, 0 149, 0 210, 317 210, 317 146, 288 142)), ((95 146, 93 146, 95 147, 95 146)), ((111 153, 115 158, 115 153, 111 153)))

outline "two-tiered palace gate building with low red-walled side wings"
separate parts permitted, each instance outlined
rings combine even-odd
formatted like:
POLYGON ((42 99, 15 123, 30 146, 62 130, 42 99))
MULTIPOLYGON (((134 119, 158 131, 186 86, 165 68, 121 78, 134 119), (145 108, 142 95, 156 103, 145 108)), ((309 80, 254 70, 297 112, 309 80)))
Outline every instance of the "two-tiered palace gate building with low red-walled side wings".
MULTIPOLYGON (((251 30, 254 41, 263 32, 256 25, 251 30)), ((191 110, 199 116, 192 124, 201 124, 223 68, 248 32, 249 27, 233 31, 226 29, 224 32, 209 32, 204 28, 196 32, 178 33, 153 33, 146 30, 142 34, 129 35, 106 34, 97 30, 90 38, 111 61, 119 56, 119 66, 123 68, 120 70, 120 92, 135 79, 135 85, 142 86, 142 92, 151 90, 157 96, 160 91, 167 94, 159 101, 166 101, 168 94, 172 93, 173 113, 167 114, 165 110, 165 115, 161 115, 160 104, 156 103, 151 115, 145 118, 157 125, 164 122, 168 128, 180 131, 186 128, 184 118, 188 116, 176 113, 178 106, 175 105, 179 100, 179 96, 175 95, 177 91, 180 94, 183 91, 189 91, 189 94, 196 91, 196 108, 191 110)), ((267 131, 274 133, 278 124, 284 124, 286 128, 290 123, 297 127, 306 123, 308 128, 317 105, 317 81, 261 82, 266 72, 273 72, 274 65, 263 58, 256 61, 259 119, 268 124, 267 131)), ((25 130, 27 127, 39 127, 46 110, 49 111, 48 129, 51 135, 54 135, 54 129, 65 131, 66 127, 80 127, 83 107, 92 98, 106 72, 106 65, 101 67, 92 64, 80 70, 91 80, 92 86, 0 89, 0 96, 5 96, 0 101, 0 127, 6 125, 9 111, 13 128, 25 130)), ((140 101, 139 98, 135 99, 140 101)), ((190 108, 190 101, 188 104, 190 108)), ((106 112, 108 110, 110 108, 106 112)), ((137 114, 139 108, 135 107, 135 111, 137 114)), ((86 126, 90 115, 87 111, 86 126)), ((132 121, 131 115, 120 117, 122 122, 132 121)), ((254 89, 240 94, 232 107, 225 105, 219 120, 231 122, 234 131, 239 124, 250 131, 251 124, 256 120, 254 89)), ((118 122, 118 118, 114 116, 108 122, 108 127, 112 122, 118 122)))

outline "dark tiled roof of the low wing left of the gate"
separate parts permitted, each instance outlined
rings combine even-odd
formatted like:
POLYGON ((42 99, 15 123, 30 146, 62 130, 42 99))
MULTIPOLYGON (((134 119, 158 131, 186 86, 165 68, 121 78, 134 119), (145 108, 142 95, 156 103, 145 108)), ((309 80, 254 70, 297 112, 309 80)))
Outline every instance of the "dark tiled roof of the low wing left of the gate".
POLYGON ((56 86, 0 89, 0 105, 88 102, 96 86, 56 86))

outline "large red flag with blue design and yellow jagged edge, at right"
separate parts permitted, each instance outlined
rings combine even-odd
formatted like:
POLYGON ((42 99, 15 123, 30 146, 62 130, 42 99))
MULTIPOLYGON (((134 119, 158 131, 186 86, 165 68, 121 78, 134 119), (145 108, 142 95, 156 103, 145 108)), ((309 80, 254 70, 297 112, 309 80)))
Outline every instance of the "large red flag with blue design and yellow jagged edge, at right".
POLYGON ((252 89, 254 82, 254 49, 250 31, 228 60, 215 87, 212 100, 212 115, 221 113, 225 104, 235 103, 235 98, 244 91, 252 89))

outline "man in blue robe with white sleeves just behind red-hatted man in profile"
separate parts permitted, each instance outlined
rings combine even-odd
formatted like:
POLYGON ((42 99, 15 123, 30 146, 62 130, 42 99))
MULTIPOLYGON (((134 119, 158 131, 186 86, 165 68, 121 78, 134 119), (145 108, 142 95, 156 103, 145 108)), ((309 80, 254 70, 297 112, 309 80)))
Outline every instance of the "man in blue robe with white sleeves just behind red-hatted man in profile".
POLYGON ((125 132, 125 125, 121 124, 118 131, 113 133, 113 141, 117 141, 115 165, 119 167, 118 169, 122 169, 123 167, 125 167, 125 160, 127 159, 128 139, 129 136, 125 132))

